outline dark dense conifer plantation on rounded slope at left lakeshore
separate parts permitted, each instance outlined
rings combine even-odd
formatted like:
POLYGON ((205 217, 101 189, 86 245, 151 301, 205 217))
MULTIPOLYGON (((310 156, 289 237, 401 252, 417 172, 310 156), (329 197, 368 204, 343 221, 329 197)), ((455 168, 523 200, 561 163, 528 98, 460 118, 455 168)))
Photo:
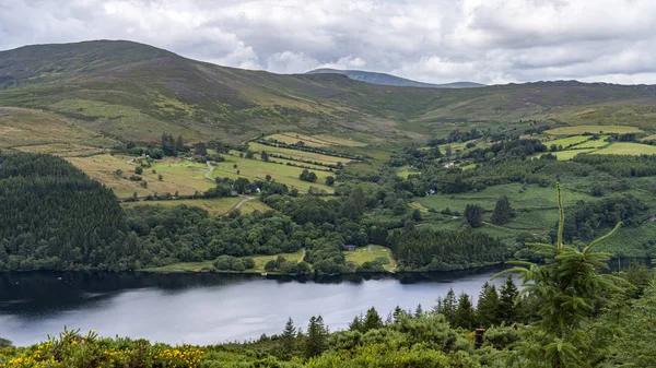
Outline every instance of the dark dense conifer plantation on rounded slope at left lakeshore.
POLYGON ((98 266, 128 241, 114 193, 50 155, 0 154, 0 218, 3 270, 98 266))

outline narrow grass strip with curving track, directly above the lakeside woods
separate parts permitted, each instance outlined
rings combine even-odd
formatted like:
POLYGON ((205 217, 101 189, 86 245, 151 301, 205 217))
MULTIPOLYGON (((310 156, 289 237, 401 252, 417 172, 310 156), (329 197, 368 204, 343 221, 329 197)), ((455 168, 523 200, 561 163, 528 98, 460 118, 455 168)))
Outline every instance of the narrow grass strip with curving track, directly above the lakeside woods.
MULTIPOLYGON (((237 205, 244 198, 242 197, 230 197, 230 198, 212 198, 212 199, 197 199, 197 200, 175 200, 175 201, 142 201, 142 202, 124 202, 121 206, 124 209, 131 209, 138 205, 155 205, 155 206, 165 206, 173 207, 177 205, 188 205, 195 206, 202 210, 206 210, 210 216, 220 216, 227 213, 235 205, 237 205)), ((250 200, 248 202, 244 202, 242 206, 239 206, 239 212, 242 213, 250 213, 256 207, 268 209, 269 206, 259 200, 250 200), (251 206, 246 206, 248 202, 257 202, 251 206)), ((260 210, 261 211, 261 210, 260 210)))

